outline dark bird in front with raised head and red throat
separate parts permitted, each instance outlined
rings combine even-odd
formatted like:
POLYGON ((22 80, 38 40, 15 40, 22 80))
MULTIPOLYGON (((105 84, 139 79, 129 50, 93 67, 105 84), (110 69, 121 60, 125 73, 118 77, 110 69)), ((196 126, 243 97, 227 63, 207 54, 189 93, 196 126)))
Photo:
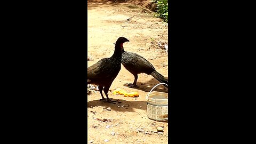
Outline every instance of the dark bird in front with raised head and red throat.
POLYGON ((108 90, 121 69, 123 43, 130 42, 125 37, 119 37, 116 41, 114 54, 110 58, 103 58, 87 68, 87 84, 99 85, 102 99, 114 103, 108 98, 108 90), (107 99, 103 97, 104 91, 107 99))

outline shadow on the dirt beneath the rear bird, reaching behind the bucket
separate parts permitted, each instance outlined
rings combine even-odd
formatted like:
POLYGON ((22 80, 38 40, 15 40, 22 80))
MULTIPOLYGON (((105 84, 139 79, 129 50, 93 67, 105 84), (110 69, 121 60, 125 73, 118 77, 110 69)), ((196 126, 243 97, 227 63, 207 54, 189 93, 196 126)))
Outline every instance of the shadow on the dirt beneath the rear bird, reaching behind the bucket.
MULTIPOLYGON (((166 79, 168 79, 168 77, 165 77, 166 79)), ((141 91, 145 91, 145 92, 150 92, 150 90, 157 84, 159 84, 160 82, 158 82, 155 78, 151 78, 148 82, 146 82, 146 84, 142 84, 139 81, 137 81, 137 87, 131 87, 132 89, 137 89, 137 90, 141 90, 141 91)), ((129 87, 127 84, 124 84, 124 86, 129 87)), ((168 93, 168 89, 163 85, 158 85, 157 87, 155 87, 155 89, 153 91, 157 91, 157 92, 165 92, 168 93)))

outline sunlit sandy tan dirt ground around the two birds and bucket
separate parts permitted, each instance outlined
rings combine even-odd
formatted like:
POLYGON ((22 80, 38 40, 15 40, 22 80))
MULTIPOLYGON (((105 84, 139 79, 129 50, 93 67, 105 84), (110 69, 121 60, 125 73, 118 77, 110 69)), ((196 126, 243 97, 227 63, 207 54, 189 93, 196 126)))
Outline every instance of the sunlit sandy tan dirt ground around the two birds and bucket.
MULTIPOLYGON (((102 58, 111 57, 114 53, 113 43, 118 37, 124 36, 130 40, 124 43, 125 51, 140 54, 168 78, 168 55, 163 46, 158 45, 158 42, 167 42, 168 25, 153 15, 148 9, 135 5, 134 1, 131 4, 129 1, 112 3, 88 0, 88 67, 102 58)), ((108 92, 109 98, 121 100, 117 104, 99 101, 99 91, 90 90, 91 93, 87 95, 88 143, 167 143, 168 121, 157 122, 147 117, 146 94, 159 82, 151 75, 139 74, 138 87, 130 88, 125 85, 133 81, 133 75, 122 66, 110 86, 111 92, 108 92), (139 97, 113 94, 113 90, 117 88, 126 92, 138 92, 139 97), (111 110, 107 110, 108 107, 111 110), (162 134, 151 132, 157 131, 157 126, 163 127, 162 134)), ((167 93, 168 89, 159 85, 154 91, 167 93)))

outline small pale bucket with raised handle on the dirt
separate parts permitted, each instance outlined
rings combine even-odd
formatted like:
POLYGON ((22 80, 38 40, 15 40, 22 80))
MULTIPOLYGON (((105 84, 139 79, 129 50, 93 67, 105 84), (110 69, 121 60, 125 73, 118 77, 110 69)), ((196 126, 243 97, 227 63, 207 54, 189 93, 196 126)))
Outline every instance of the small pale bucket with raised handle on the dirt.
POLYGON ((165 83, 159 83, 155 85, 150 90, 150 92, 146 95, 147 115, 149 119, 153 119, 155 121, 167 121, 168 120, 168 93, 155 92, 155 91, 152 92, 155 89, 155 87, 160 84, 165 84, 165 83))

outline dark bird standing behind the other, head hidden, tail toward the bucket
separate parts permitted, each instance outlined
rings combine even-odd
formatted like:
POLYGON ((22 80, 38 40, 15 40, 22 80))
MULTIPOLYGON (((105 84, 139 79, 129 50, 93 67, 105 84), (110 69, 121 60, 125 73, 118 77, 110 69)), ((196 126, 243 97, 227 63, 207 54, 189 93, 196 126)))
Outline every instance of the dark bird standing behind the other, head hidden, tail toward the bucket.
MULTIPOLYGON (((116 43, 114 43, 116 44, 116 43)), ((133 52, 126 52, 124 51, 122 47, 122 65, 124 66, 125 69, 130 71, 130 73, 133 74, 134 76, 134 82, 131 84, 127 84, 130 87, 135 87, 137 86, 137 79, 138 79, 138 74, 145 73, 148 75, 153 76, 154 78, 157 79, 157 81, 161 83, 168 84, 168 80, 158 73, 154 66, 145 58, 141 57, 141 55, 133 52)), ((164 85, 165 87, 168 88, 167 85, 164 85)))

